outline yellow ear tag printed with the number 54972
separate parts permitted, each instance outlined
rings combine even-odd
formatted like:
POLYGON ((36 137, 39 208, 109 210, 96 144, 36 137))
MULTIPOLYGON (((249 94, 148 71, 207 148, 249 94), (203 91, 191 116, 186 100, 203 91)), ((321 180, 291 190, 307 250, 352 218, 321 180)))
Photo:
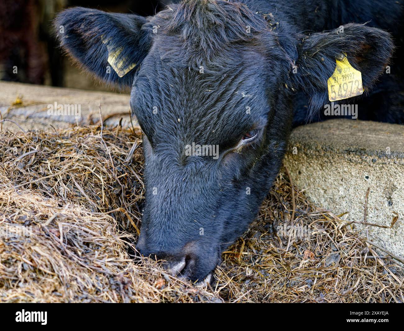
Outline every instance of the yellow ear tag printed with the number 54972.
POLYGON ((328 99, 337 101, 356 97, 363 93, 362 74, 354 69, 345 56, 342 60, 335 60, 337 67, 328 78, 328 99))

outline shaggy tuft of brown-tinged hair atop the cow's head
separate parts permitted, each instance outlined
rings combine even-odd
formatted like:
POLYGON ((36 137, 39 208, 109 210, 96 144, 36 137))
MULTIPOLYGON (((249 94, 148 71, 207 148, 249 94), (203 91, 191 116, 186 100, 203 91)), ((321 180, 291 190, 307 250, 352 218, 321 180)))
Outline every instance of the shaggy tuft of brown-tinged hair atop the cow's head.
POLYGON ((162 57, 181 59, 189 67, 215 65, 218 55, 233 46, 265 48, 262 35, 274 36, 263 17, 234 1, 170 5, 142 29, 152 32, 162 57))

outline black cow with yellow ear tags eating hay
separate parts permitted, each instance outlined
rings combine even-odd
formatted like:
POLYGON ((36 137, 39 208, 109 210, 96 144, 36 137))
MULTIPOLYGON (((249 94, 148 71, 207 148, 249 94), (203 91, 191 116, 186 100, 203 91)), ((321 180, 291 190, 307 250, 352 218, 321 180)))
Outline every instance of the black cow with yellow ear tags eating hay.
POLYGON ((146 160, 137 248, 194 281, 256 217, 292 126, 324 117, 336 59, 362 73, 364 95, 385 77, 359 118, 404 121, 384 74, 391 34, 402 42, 396 1, 187 0, 147 18, 70 8, 55 22, 84 69, 131 86, 146 160))

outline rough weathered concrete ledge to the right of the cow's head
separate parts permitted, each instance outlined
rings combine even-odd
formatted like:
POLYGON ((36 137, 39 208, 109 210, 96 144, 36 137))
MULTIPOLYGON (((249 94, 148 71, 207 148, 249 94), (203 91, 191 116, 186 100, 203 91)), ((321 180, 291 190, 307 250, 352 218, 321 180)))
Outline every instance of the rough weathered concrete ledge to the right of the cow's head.
MULTIPOLYGON (((404 256, 404 126, 334 119, 293 130, 284 164, 314 204, 366 222, 370 240, 404 256), (397 215, 396 215, 397 214, 397 215)), ((358 230, 365 225, 356 225, 358 230)), ((366 232, 364 232, 366 234, 366 232)))

